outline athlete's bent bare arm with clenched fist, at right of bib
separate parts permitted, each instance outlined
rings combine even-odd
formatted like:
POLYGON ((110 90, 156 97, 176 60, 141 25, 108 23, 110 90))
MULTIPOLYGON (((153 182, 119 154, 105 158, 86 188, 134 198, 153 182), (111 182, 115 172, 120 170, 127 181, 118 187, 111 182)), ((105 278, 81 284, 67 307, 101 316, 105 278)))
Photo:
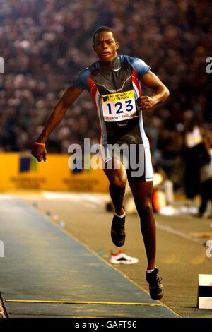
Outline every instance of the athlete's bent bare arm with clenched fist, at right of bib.
POLYGON ((143 95, 139 97, 137 105, 141 109, 150 109, 151 107, 160 104, 160 102, 165 102, 170 95, 167 87, 152 71, 148 71, 143 78, 141 78, 141 83, 154 90, 154 93, 151 96, 143 95))

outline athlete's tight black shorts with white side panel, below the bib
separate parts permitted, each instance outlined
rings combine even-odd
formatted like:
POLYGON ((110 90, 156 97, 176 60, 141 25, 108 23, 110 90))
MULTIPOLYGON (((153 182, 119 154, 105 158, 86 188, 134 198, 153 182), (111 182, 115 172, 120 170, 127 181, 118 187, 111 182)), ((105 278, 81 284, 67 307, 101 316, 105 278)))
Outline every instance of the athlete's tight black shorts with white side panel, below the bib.
POLYGON ((153 181, 153 167, 148 138, 139 117, 107 123, 107 142, 102 143, 102 162, 112 168, 112 160, 119 160, 126 168, 130 182, 153 181), (124 121, 122 121, 124 122, 124 121))

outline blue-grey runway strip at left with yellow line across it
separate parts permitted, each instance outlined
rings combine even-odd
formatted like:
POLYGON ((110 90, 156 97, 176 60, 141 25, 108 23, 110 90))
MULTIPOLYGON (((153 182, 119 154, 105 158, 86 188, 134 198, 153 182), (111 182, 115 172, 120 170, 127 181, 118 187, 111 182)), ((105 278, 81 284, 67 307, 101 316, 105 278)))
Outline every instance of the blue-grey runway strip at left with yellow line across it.
POLYGON ((9 317, 177 316, 27 203, 15 198, 1 199, 0 211, 0 239, 5 250, 5 257, 0 258, 0 292, 9 317))

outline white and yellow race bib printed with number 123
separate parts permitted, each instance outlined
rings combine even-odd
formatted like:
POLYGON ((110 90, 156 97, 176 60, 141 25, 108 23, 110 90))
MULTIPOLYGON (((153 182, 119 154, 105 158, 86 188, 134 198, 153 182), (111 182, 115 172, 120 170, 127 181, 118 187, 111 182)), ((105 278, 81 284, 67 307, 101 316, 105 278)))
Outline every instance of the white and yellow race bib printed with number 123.
POLYGON ((102 95, 103 117, 107 122, 137 117, 134 90, 102 95))

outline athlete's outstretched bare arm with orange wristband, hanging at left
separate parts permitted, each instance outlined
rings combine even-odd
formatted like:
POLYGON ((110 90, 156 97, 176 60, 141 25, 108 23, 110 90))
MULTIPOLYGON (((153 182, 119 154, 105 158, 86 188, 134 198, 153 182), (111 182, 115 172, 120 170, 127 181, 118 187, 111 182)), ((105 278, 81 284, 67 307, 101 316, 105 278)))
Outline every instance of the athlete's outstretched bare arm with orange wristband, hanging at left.
MULTIPOLYGON (((52 114, 50 114, 49 118, 47 119, 42 133, 37 138, 37 143, 46 143, 47 138, 52 133, 54 128, 64 118, 67 109, 76 100, 76 98, 81 95, 82 92, 83 90, 81 88, 78 88, 78 86, 76 86, 75 84, 71 84, 69 86, 69 88, 65 91, 64 95, 61 97, 61 100, 59 100, 56 107, 54 107, 52 114)), ((41 162, 42 160, 47 162, 47 150, 45 149, 45 146, 35 144, 31 153, 39 162, 41 162)))

